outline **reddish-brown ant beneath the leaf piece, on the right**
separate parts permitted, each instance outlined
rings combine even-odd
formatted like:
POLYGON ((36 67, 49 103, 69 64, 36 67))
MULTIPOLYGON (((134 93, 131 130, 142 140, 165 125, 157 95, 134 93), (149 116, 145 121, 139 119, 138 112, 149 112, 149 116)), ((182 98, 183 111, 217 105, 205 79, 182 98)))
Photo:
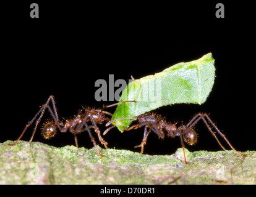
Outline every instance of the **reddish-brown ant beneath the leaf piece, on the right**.
MULTIPOLYGON (((213 137, 215 137, 215 139, 217 140, 217 142, 219 143, 220 147, 223 150, 226 150, 226 149, 223 147, 223 145, 221 145, 220 141, 218 140, 217 136, 215 135, 215 132, 213 132, 211 130, 208 123, 210 123, 211 126, 213 126, 215 128, 216 132, 218 132, 218 134, 220 134, 221 137, 223 137, 223 139, 228 143, 229 147, 231 147, 237 154, 245 156, 242 153, 239 153, 236 149, 234 149, 234 147, 231 145, 231 143, 228 141, 228 139, 226 139, 225 135, 220 132, 220 130, 215 126, 213 121, 211 121, 211 119, 209 118, 209 116, 206 113, 198 113, 197 115, 194 116, 194 118, 191 119, 191 121, 189 121, 189 123, 187 123, 186 125, 181 125, 179 127, 177 127, 176 124, 171 124, 171 123, 166 122, 165 118, 163 118, 161 115, 156 115, 155 113, 145 113, 145 114, 137 116, 135 118, 114 119, 112 121, 109 121, 106 124, 106 126, 109 126, 109 124, 113 123, 114 121, 118 121, 121 119, 137 119, 137 121, 139 122, 139 124, 134 124, 133 126, 130 126, 128 128, 123 127, 124 130, 126 130, 126 131, 129 131, 130 129, 137 129, 137 128, 145 126, 142 143, 140 143, 140 145, 135 146, 135 148, 141 147, 140 153, 143 153, 144 145, 146 144, 147 137, 151 131, 155 132, 155 134, 157 134, 160 139, 163 139, 164 136, 180 137, 181 145, 183 148, 184 161, 187 164, 185 150, 184 150, 184 148, 185 148, 184 142, 188 143, 189 145, 194 145, 197 142, 197 133, 194 131, 194 129, 192 129, 192 127, 194 127, 195 124, 200 119, 202 119, 203 123, 205 123, 205 125, 207 126, 208 131, 210 131, 210 133, 213 135, 213 137), (207 123, 207 121, 208 121, 208 123, 207 123)), ((107 132, 108 132, 108 129, 103 133, 103 135, 105 135, 107 132)))

